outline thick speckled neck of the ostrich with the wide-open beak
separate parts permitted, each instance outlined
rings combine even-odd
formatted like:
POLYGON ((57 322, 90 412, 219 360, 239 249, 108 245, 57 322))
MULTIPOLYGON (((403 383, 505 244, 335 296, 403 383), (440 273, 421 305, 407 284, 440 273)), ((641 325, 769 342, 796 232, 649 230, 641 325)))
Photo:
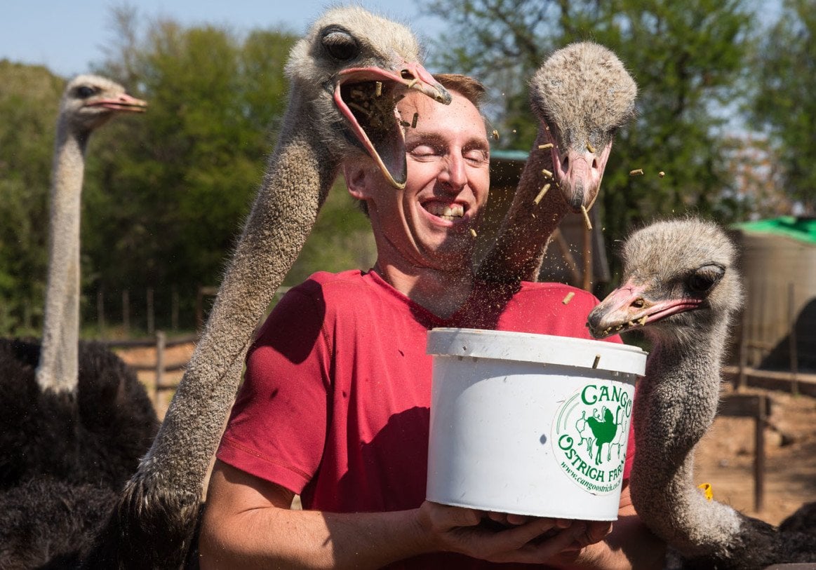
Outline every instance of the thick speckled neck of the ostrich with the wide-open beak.
MULTIPOLYGON (((313 227, 339 161, 290 101, 279 143, 206 329, 135 480, 197 496, 233 404, 251 335, 313 227)), ((314 120, 314 119, 313 119, 314 120)), ((160 493, 161 494, 161 493, 160 493)))

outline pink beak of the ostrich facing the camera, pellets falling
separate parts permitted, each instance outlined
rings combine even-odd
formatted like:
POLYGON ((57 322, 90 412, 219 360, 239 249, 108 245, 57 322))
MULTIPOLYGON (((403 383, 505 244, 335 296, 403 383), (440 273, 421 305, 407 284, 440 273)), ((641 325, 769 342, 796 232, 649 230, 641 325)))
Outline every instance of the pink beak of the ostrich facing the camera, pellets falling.
POLYGON ((544 130, 552 143, 553 177, 564 201, 574 212, 580 212, 581 206, 589 210, 595 203, 601 189, 606 161, 612 152, 612 140, 603 148, 592 148, 587 144, 583 148, 562 148, 552 131, 544 130))

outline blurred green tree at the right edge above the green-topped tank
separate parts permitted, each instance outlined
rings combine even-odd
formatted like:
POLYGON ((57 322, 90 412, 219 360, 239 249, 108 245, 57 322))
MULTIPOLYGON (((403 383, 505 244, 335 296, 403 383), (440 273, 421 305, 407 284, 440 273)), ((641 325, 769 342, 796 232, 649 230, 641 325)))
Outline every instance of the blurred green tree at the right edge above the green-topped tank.
POLYGON ((816 2, 784 0, 756 52, 754 124, 769 132, 782 188, 816 214, 816 2))

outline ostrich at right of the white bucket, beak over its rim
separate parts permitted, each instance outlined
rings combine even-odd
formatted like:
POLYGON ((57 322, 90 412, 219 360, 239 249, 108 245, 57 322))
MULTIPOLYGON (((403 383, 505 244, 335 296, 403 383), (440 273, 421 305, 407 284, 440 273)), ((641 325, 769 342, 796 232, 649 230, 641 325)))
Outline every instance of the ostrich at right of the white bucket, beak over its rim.
POLYGON ((714 223, 654 223, 628 238, 623 285, 589 313, 596 338, 643 327, 654 344, 633 411, 632 502, 653 532, 700 568, 816 562, 812 534, 707 501, 694 484, 694 446, 714 421, 726 333, 742 303, 735 256, 714 223))

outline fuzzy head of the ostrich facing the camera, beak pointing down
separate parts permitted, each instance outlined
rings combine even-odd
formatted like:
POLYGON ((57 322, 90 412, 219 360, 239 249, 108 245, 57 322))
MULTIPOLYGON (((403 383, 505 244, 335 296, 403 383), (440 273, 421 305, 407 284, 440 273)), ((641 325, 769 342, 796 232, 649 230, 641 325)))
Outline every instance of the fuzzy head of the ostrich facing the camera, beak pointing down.
POLYGON ((554 52, 530 80, 533 112, 552 144, 552 176, 572 210, 594 203, 614 132, 634 117, 636 95, 618 57, 592 42, 554 52))

